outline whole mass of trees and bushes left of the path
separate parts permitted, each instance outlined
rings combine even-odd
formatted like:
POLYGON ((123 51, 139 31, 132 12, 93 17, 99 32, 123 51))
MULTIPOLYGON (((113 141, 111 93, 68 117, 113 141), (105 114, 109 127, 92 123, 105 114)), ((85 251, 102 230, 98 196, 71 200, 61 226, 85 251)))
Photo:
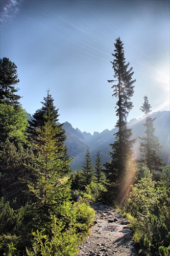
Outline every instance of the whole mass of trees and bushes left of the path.
POLYGON ((0 60, 0 254, 75 255, 94 210, 69 201, 71 159, 50 91, 28 127, 16 68, 0 60))

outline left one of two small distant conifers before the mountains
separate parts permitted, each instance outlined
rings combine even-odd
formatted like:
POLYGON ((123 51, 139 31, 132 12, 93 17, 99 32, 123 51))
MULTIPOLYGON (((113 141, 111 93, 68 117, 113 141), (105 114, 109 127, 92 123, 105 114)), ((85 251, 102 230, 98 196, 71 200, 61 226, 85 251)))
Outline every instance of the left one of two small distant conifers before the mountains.
POLYGON ((87 152, 85 155, 85 162, 83 163, 82 169, 82 184, 84 186, 89 185, 93 179, 94 170, 91 162, 89 148, 87 148, 87 152))

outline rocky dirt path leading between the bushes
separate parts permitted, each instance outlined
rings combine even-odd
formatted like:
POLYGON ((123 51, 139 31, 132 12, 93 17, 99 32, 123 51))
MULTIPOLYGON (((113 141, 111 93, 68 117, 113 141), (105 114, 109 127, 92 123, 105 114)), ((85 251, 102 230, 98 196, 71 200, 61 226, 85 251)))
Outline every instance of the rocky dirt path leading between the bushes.
POLYGON ((77 256, 136 256, 129 222, 110 206, 91 203, 96 219, 77 256))

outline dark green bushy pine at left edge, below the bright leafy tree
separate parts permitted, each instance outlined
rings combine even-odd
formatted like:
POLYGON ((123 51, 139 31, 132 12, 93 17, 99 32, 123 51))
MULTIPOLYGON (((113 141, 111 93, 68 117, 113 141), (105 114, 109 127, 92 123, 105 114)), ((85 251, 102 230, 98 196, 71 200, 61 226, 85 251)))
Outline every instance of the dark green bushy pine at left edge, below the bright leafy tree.
POLYGON ((19 208, 29 200, 25 191, 28 191, 23 182, 30 175, 26 165, 34 164, 34 155, 31 148, 21 142, 10 142, 7 139, 1 143, 0 150, 0 194, 10 205, 19 208))

